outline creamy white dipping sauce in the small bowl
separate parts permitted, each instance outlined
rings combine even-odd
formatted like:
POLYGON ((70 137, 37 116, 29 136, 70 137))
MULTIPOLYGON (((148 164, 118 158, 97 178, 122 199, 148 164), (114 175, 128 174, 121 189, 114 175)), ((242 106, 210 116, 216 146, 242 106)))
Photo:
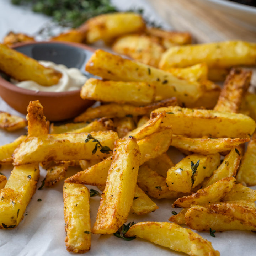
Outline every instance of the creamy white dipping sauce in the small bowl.
POLYGON ((15 79, 11 79, 11 82, 18 87, 33 90, 33 91, 45 91, 45 92, 64 92, 80 90, 88 79, 77 68, 67 68, 64 65, 58 65, 49 61, 39 61, 39 63, 47 68, 54 68, 62 73, 62 77, 59 79, 58 84, 52 86, 42 86, 34 81, 22 81, 19 82, 15 79))

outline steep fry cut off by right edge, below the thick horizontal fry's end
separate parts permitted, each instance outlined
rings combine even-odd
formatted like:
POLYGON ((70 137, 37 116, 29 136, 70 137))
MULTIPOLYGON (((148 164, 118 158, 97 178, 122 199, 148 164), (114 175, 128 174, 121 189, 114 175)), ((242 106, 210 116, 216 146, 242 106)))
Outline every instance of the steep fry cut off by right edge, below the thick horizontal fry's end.
POLYGON ((247 186, 256 185, 256 133, 252 135, 248 143, 236 179, 239 183, 244 183, 247 186))

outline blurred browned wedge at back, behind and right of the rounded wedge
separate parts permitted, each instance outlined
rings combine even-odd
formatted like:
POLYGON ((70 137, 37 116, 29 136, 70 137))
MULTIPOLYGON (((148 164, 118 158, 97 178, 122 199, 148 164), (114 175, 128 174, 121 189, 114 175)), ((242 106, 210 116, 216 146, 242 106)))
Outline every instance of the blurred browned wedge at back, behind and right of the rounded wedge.
POLYGON ((191 44, 192 41, 191 34, 188 32, 166 31, 160 28, 147 27, 146 34, 160 38, 166 49, 174 44, 191 44))

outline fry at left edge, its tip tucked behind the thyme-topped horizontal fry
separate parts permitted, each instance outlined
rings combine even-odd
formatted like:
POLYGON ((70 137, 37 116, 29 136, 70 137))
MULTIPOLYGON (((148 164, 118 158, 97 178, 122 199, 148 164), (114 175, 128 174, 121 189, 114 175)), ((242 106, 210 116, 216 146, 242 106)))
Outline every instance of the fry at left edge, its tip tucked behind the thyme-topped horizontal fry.
POLYGON ((26 135, 21 135, 14 142, 0 146, 0 164, 11 164, 12 154, 14 150, 20 145, 25 139, 26 135))

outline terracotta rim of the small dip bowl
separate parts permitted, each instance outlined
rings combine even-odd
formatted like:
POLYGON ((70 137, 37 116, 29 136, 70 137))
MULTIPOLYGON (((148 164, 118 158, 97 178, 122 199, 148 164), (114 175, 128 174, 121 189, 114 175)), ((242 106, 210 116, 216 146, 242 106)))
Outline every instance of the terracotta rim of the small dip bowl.
MULTIPOLYGON (((94 52, 95 49, 87 46, 86 44, 80 44, 80 43, 74 43, 74 42, 67 42, 67 41, 39 41, 39 42, 21 42, 21 43, 17 43, 14 44, 13 46, 11 46, 11 48, 15 49, 16 47, 20 47, 20 46, 27 46, 27 45, 31 45, 31 44, 67 44, 67 45, 71 45, 77 48, 82 48, 85 50, 89 50, 90 52, 94 52)), ((0 76, 0 87, 5 87, 8 90, 11 91, 15 91, 21 94, 26 94, 26 95, 32 95, 32 96, 42 96, 42 97, 60 97, 60 96, 67 96, 67 95, 73 95, 73 94, 77 94, 81 91, 81 89, 79 90, 74 90, 74 91, 64 91, 64 92, 42 92, 42 91, 33 91, 33 90, 28 90, 28 89, 24 89, 24 88, 20 88, 14 84, 12 84, 11 82, 8 82, 7 80, 5 80, 4 78, 2 78, 2 76, 0 76)))

